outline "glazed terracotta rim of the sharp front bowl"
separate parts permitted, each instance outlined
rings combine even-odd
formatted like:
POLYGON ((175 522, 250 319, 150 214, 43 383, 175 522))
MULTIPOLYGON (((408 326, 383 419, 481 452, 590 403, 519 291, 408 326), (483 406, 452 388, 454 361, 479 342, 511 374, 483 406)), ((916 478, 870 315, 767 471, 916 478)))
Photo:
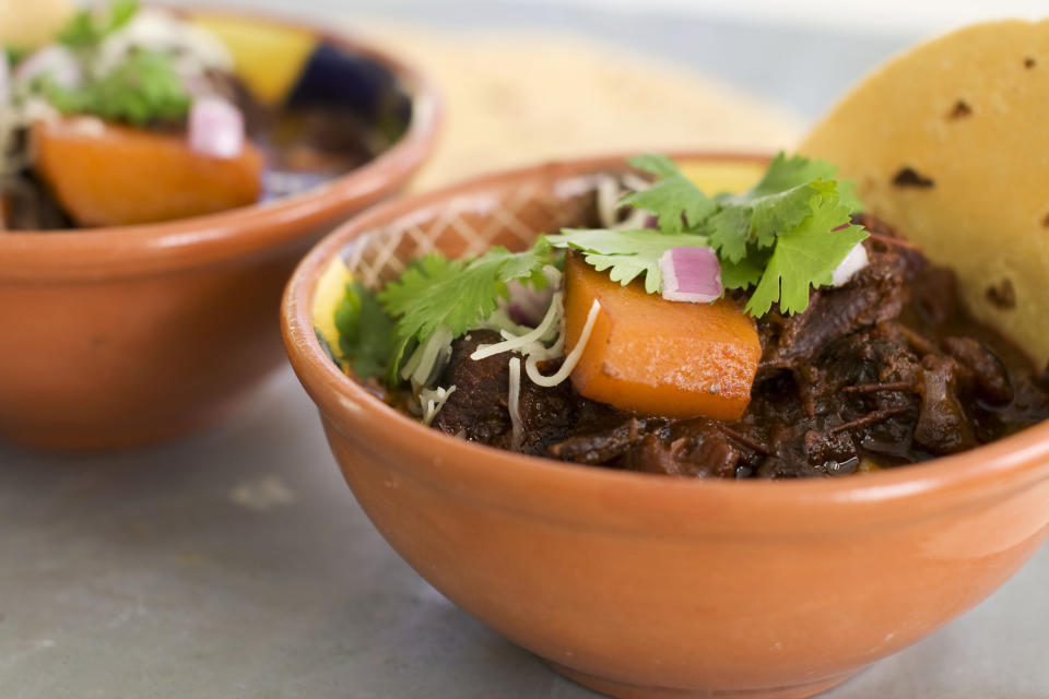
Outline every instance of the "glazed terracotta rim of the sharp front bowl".
MULTIPOLYGON (((681 151, 671 156, 691 162, 769 157, 710 151, 681 151)), ((828 526, 840 532, 986 506, 1049 479, 1049 420, 959 454, 841 478, 672 478, 579 466, 469 442, 426 427, 375 398, 341 371, 321 347, 313 323, 317 282, 330 260, 358 235, 411 214, 432 212, 453 199, 498 197, 502 188, 523 181, 623 169, 624 158, 613 155, 550 162, 482 175, 375 206, 315 246, 287 284, 281 327, 292 366, 317 403, 326 427, 338 429, 385 464, 459 496, 483 495, 504 508, 530 514, 541 511, 576 524, 593 524, 589 518, 596 516, 604 518, 605 525, 618 521, 635 532, 639 518, 644 518, 646 531, 656 526, 679 534, 697 526, 707 533, 712 526, 763 536, 770 531, 782 535, 826 533, 828 526), (369 438, 355 438, 357 431, 369 433, 369 438), (382 453, 388 447, 400 457, 396 465, 389 454, 382 453), (547 494, 549 501, 534 497, 535 493, 547 494), (605 506, 580 509, 586 502, 605 506), (609 502, 635 511, 616 512, 608 508, 609 502), (704 511, 708 514, 703 516, 704 511), (657 525, 655 517, 667 522, 657 525)))

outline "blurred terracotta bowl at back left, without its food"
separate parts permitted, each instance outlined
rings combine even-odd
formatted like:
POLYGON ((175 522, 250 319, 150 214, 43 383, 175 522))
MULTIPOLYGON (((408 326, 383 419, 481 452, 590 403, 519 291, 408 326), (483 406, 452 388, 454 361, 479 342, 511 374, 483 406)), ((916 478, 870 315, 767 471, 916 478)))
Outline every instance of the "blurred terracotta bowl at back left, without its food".
POLYGON ((402 133, 295 197, 164 224, 0 233, 0 438, 123 447, 227 414, 283 362, 273 318, 295 263, 347 214, 402 189, 432 151, 437 97, 413 68, 304 25, 222 17, 316 37, 325 61, 349 57, 358 95, 393 95, 382 104, 402 133))

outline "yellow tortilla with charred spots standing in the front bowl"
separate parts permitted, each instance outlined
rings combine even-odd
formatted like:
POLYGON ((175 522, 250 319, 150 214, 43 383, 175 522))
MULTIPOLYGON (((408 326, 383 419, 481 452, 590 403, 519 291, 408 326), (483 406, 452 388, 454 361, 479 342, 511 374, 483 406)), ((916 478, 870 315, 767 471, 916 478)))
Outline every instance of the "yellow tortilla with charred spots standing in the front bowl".
POLYGON ((1049 21, 978 24, 863 81, 799 151, 953 268, 973 313, 1049 363, 1049 21))

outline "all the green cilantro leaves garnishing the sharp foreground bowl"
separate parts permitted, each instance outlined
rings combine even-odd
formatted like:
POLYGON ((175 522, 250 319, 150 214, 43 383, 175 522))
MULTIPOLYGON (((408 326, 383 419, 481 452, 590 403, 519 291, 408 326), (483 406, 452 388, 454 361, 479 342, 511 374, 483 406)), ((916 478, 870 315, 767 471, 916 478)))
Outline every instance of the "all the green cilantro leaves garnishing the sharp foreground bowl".
POLYGON ((804 311, 810 289, 829 285, 834 270, 868 237, 850 223, 859 209, 851 183, 836 180, 836 168, 823 161, 781 153, 749 191, 714 197, 667 157, 644 155, 630 164, 655 175, 656 182, 622 203, 655 216, 656 229, 566 228, 524 252, 493 248, 465 260, 429 253, 390 282, 377 300, 360 285, 347 286, 335 322, 341 350, 353 358, 357 376, 385 369, 390 383, 399 383, 410 350, 417 357, 427 343, 446 345, 487 321, 510 281, 543 286, 543 268, 557 262, 559 249, 580 251, 588 264, 624 285, 644 276, 645 289, 658 294, 659 259, 667 250, 714 248, 722 285, 755 287, 746 310, 762 317, 777 303, 783 313, 804 311))

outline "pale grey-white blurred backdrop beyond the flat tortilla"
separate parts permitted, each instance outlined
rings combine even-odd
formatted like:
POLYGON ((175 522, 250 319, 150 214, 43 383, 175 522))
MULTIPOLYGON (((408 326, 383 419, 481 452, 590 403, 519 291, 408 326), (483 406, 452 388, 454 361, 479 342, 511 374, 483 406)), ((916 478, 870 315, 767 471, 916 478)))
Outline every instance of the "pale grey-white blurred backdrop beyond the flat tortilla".
MULTIPOLYGON (((963 24, 1042 16, 1041 0, 231 0, 437 31, 570 32, 664 57, 814 118, 893 52, 963 24)), ((362 25, 361 28, 367 28, 362 25)))

